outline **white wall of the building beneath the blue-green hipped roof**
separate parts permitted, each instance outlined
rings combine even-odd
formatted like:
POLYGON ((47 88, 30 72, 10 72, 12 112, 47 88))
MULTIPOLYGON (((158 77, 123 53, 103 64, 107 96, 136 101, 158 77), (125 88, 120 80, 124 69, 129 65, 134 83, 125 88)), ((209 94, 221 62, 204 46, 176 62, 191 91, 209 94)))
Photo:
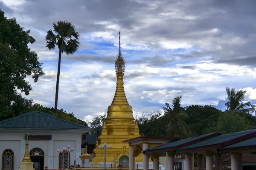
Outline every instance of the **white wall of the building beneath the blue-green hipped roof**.
MULTIPOLYGON (((29 140, 29 151, 34 147, 44 150, 44 167, 49 169, 58 169, 58 152, 70 145, 74 147, 73 153, 70 154, 70 164, 76 159, 80 164, 79 156, 81 155, 81 132, 61 132, 61 131, 28 131, 29 135, 52 135, 52 140, 29 140), (52 164, 49 161, 52 160, 52 164)), ((25 131, 0 131, 0 167, 2 167, 2 153, 6 149, 12 149, 14 158, 14 169, 19 169, 20 161, 22 161, 25 153, 25 131)))

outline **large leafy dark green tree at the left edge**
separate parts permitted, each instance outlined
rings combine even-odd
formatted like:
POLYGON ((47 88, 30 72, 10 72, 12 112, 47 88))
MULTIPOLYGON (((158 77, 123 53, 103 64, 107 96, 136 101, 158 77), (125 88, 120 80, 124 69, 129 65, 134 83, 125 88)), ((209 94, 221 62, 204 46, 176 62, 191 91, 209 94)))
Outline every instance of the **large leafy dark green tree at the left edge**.
POLYGON ((34 82, 44 75, 42 63, 28 44, 35 38, 24 31, 15 18, 7 19, 0 9, 0 117, 19 115, 32 105, 21 93, 29 95, 32 87, 25 79, 31 76, 34 82))

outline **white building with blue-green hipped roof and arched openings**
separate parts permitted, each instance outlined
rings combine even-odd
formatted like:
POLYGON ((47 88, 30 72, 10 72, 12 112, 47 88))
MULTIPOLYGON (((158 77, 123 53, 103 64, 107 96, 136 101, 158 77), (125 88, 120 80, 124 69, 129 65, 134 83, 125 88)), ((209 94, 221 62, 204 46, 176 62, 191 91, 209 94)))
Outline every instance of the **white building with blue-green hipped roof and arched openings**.
MULTIPOLYGON (((70 165, 80 164, 81 139, 91 128, 50 114, 33 111, 0 122, 0 166, 2 170, 18 170, 25 153, 25 135, 29 133, 29 154, 35 169, 58 169, 62 155, 58 149, 74 148, 70 165)), ((67 155, 64 155, 67 165, 67 155)))

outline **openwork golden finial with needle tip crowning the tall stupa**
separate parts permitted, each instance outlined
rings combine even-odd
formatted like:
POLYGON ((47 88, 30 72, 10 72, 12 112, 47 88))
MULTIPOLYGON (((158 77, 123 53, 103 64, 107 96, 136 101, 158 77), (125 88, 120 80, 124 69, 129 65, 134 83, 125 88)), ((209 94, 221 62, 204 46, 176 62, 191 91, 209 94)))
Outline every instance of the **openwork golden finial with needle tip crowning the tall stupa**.
POLYGON ((116 57, 116 77, 123 79, 125 77, 125 60, 122 57, 122 53, 121 53, 121 44, 120 44, 121 33, 118 32, 118 34, 119 34, 119 51, 116 57))

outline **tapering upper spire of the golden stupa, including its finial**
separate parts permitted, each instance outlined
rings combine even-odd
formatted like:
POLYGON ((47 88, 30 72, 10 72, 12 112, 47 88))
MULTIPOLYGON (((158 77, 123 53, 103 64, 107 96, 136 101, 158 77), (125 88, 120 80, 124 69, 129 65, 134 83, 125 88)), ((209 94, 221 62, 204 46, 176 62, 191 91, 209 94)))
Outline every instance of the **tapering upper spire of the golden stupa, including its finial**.
POLYGON ((115 67, 116 67, 116 93, 113 98, 111 105, 129 105, 124 90, 123 78, 125 76, 125 60, 122 57, 121 44, 120 44, 120 32, 119 34, 119 51, 116 57, 115 67))

